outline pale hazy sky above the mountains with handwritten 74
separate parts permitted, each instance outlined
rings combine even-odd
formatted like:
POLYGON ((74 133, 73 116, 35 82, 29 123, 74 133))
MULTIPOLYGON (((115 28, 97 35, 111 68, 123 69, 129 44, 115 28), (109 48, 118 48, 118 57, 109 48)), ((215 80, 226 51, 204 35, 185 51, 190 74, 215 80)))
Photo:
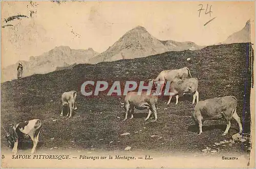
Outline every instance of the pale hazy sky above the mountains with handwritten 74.
POLYGON ((136 26, 160 40, 217 44, 240 31, 247 20, 255 24, 254 6, 254 2, 1 2, 2 26, 13 25, 2 28, 2 67, 60 45, 92 47, 101 53, 136 26), (211 16, 205 14, 207 4, 211 16), (199 17, 202 6, 205 10, 199 17), (5 22, 17 14, 28 18, 5 22))

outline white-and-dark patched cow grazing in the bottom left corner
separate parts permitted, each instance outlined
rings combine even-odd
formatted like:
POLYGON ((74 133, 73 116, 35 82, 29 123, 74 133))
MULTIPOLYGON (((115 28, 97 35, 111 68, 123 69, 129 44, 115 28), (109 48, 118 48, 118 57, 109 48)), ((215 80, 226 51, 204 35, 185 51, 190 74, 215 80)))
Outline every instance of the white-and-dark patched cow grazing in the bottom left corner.
POLYGON ((39 133, 41 131, 42 123, 39 119, 32 119, 25 122, 14 124, 10 134, 6 136, 9 143, 9 147, 12 148, 12 152, 16 155, 18 142, 24 137, 29 136, 33 141, 33 148, 31 153, 34 154, 35 148, 38 143, 39 133))

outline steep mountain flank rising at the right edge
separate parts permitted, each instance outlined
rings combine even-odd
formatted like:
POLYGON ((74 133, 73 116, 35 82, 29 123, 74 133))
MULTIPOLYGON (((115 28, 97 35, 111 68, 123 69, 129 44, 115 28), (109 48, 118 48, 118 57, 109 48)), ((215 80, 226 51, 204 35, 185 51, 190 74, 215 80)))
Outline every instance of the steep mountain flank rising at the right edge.
POLYGON ((224 43, 246 43, 251 42, 251 26, 250 20, 248 20, 241 31, 231 34, 224 43))

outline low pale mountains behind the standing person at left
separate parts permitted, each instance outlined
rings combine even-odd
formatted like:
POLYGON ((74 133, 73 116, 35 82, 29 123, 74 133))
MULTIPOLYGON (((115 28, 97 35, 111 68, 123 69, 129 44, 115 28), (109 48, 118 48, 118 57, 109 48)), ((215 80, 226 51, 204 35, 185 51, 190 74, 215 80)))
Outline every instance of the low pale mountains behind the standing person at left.
MULTIPOLYGON (((67 67, 74 63, 87 63, 88 60, 98 55, 92 48, 88 50, 73 50, 69 46, 58 46, 40 56, 31 56, 29 61, 23 63, 23 76, 46 74, 55 71, 58 67, 67 67)), ((7 66, 2 69, 2 82, 17 78, 17 65, 7 66)))

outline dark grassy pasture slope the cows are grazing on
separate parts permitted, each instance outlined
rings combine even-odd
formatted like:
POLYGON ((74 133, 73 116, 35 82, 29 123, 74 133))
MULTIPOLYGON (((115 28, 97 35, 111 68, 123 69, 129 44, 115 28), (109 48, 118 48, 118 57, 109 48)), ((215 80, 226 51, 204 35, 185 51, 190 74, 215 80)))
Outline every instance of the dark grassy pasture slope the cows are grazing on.
MULTIPOLYGON (((245 80, 246 43, 209 46, 198 51, 167 52, 146 58, 102 62, 96 65, 79 64, 68 70, 45 75, 33 75, 20 81, 2 84, 2 124, 8 128, 13 123, 31 118, 40 118, 44 128, 40 135, 42 149, 77 148, 97 150, 123 150, 131 146, 135 150, 158 150, 169 152, 197 152, 205 146, 223 139, 229 140, 238 132, 236 121, 231 121, 227 136, 221 136, 224 121, 206 121, 204 134, 197 136, 198 128, 188 117, 194 110, 191 97, 166 105, 167 98, 159 99, 158 121, 144 122, 147 111, 136 110, 135 119, 125 122, 120 97, 99 96, 77 98, 76 115, 67 119, 60 117, 60 96, 67 90, 80 91, 86 80, 126 81, 155 78, 161 70, 189 67, 191 75, 199 78, 200 100, 224 95, 238 98, 238 114, 242 117, 245 80), (186 58, 190 57, 188 62, 186 58), (225 81, 224 81, 225 80, 225 81), (230 85, 227 87, 227 85, 230 85), (190 100, 189 100, 190 99, 190 100), (168 108, 164 110, 164 108, 168 108), (121 117, 121 118, 118 118, 121 117), (52 122, 52 119, 57 122, 52 122), (139 133, 136 131, 142 130, 139 133), (130 132, 128 136, 120 136, 130 132), (150 135, 158 135, 151 138, 150 135), (50 138, 54 137, 52 141, 50 138), (161 139, 158 139, 162 137, 161 139), (103 140, 99 140, 104 138, 103 140), (73 142, 72 142, 73 141, 73 142), (113 141, 112 143, 109 143, 113 141), (117 142, 120 141, 120 142, 117 142)), ((246 87, 246 106, 243 117, 245 132, 250 132, 249 89, 246 87)), ((123 99, 123 97, 121 97, 123 99)), ((4 131, 2 131, 4 133, 4 131)), ((4 134, 2 147, 6 147, 4 134)), ((225 150, 243 152, 242 143, 225 150)))

